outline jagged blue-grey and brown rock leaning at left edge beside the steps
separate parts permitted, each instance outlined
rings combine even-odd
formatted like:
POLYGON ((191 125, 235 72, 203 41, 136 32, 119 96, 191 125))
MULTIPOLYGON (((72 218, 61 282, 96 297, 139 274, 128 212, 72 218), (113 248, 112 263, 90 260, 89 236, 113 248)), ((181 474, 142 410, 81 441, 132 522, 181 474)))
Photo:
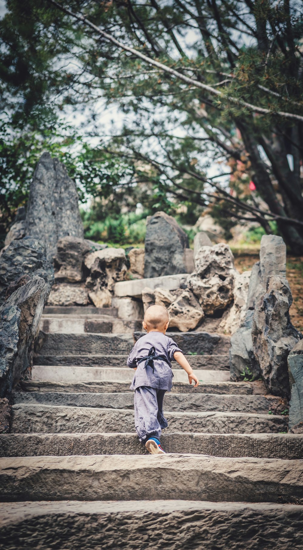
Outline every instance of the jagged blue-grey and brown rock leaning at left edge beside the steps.
POLYGON ((14 380, 32 365, 34 341, 47 292, 44 279, 34 276, 0 308, 0 397, 8 397, 14 380))

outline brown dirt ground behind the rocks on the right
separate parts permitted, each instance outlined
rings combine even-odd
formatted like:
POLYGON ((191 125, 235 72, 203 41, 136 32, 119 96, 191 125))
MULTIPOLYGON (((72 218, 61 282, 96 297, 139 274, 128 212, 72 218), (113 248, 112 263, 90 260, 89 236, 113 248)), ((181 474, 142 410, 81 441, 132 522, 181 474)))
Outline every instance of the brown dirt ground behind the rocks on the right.
MULTIPOLYGON (((234 254, 235 267, 240 272, 251 270, 259 260, 258 254, 234 254)), ((286 276, 293 294, 290 318, 298 331, 303 331, 303 256, 287 256, 286 276)))

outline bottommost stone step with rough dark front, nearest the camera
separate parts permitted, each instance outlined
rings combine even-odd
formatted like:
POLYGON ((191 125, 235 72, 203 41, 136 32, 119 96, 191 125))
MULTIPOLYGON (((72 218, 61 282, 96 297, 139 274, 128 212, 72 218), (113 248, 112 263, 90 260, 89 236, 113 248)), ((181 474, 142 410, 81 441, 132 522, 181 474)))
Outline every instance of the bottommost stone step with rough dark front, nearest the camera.
POLYGON ((142 550, 164 548, 159 546, 163 539, 174 550, 299 550, 303 506, 192 500, 156 500, 152 506, 146 500, 15 502, 0 505, 0 526, 5 550, 20 550, 20 541, 39 550, 112 550, 118 541, 119 548, 142 550))

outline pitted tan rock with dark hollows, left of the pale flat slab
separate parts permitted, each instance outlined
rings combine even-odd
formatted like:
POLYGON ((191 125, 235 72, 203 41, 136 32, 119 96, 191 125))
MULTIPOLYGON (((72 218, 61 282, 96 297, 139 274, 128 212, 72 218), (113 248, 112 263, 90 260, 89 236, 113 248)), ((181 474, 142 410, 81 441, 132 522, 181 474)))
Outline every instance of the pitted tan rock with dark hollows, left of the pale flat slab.
POLYGON ((123 281, 126 258, 123 248, 106 248, 85 256, 85 266, 90 272, 85 286, 96 307, 111 306, 114 284, 123 281))

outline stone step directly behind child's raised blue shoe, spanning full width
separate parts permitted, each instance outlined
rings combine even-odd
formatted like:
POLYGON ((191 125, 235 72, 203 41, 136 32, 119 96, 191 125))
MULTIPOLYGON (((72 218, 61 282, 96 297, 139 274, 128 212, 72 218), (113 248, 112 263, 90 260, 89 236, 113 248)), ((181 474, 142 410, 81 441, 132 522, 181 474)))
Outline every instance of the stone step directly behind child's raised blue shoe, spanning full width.
MULTIPOLYGON (((303 434, 163 433, 167 453, 301 459, 303 434)), ((0 456, 147 454, 136 433, 9 433, 0 435, 0 456)))

